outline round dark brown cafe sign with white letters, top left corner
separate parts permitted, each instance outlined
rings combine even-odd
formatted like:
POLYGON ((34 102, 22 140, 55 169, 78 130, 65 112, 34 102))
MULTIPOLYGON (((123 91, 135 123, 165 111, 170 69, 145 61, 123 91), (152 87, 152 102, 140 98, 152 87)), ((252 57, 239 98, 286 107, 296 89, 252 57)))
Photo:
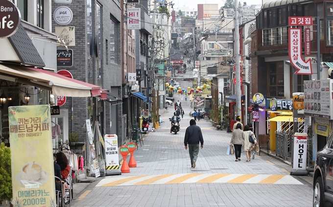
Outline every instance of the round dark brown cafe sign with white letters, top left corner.
POLYGON ((21 22, 19 9, 9 0, 0 0, 0 38, 15 34, 21 22))

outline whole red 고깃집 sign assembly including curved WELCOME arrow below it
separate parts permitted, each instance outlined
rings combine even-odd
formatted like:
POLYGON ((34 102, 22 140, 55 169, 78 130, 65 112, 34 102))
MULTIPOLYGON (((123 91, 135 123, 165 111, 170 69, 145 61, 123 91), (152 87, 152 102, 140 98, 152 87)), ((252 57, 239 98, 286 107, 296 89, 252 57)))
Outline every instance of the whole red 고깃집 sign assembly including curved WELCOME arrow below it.
MULTIPOLYGON (((289 17, 290 26, 311 26, 312 17, 289 17)), ((306 55, 311 53, 310 48, 310 29, 305 29, 305 49, 306 55)), ((310 59, 304 61, 302 57, 302 29, 289 28, 289 60, 290 63, 296 68, 295 74, 298 75, 311 75, 312 67, 310 59)))

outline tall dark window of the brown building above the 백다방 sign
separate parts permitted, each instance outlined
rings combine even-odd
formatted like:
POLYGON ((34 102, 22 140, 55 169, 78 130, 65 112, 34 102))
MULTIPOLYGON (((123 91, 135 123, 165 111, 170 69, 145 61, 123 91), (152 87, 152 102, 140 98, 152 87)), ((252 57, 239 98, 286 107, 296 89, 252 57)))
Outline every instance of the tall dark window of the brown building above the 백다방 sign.
POLYGON ((284 97, 284 62, 268 63, 269 97, 284 97))

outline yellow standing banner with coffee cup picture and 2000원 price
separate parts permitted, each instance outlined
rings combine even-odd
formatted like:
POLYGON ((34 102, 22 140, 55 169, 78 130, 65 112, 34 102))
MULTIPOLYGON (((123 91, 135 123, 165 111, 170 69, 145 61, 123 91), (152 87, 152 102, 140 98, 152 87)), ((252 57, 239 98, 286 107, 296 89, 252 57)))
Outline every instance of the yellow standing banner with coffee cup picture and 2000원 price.
POLYGON ((55 207, 49 105, 8 108, 15 207, 55 207))

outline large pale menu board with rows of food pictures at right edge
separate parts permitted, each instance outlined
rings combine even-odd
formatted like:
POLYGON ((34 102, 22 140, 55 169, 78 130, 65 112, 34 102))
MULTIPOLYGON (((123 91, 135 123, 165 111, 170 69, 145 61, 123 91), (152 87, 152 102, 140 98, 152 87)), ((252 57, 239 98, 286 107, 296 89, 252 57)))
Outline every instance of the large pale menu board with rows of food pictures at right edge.
POLYGON ((333 119, 333 79, 304 80, 304 114, 333 119))

